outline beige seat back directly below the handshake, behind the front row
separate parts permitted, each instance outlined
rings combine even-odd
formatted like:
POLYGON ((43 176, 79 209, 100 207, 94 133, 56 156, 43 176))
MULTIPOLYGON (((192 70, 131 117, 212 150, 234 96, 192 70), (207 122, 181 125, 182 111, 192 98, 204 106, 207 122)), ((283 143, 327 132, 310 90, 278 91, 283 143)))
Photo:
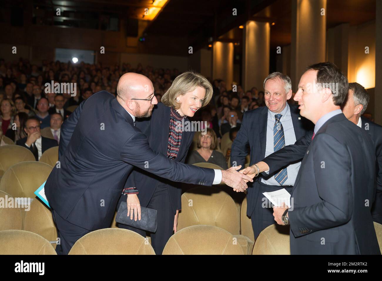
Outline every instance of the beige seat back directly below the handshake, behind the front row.
POLYGON ((217 226, 233 234, 244 253, 251 253, 253 242, 240 235, 239 212, 233 199, 215 187, 194 187, 183 193, 178 230, 194 225, 217 226))

